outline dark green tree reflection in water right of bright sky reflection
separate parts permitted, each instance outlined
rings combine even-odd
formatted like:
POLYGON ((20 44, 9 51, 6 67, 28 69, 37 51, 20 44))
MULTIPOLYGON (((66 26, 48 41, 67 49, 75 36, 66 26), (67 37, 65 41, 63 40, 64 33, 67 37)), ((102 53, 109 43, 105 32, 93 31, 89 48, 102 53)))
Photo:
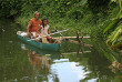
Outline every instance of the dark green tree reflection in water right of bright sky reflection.
POLYGON ((87 78, 82 81, 87 81, 91 79, 96 79, 96 81, 100 81, 100 82, 114 81, 118 74, 114 74, 109 69, 109 65, 111 64, 109 60, 113 60, 113 58, 111 58, 113 55, 113 52, 106 48, 103 40, 95 40, 95 41, 92 40, 92 44, 94 47, 91 49, 91 53, 90 54, 88 53, 87 55, 84 55, 84 58, 89 58, 87 60, 88 66, 85 66, 84 70, 90 71, 90 73, 87 74, 87 78), (104 52, 108 53, 108 58, 104 57, 104 52))

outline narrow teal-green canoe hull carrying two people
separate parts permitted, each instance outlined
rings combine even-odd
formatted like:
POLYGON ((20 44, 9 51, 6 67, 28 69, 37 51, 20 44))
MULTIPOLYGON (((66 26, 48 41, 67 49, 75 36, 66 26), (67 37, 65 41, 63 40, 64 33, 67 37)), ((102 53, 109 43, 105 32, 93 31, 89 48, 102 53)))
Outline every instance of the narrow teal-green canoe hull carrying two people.
POLYGON ((48 51, 59 51, 60 48, 60 43, 42 43, 42 42, 37 42, 33 40, 30 40, 29 38, 26 38, 23 34, 26 34, 26 32, 22 31, 18 31, 17 35, 20 40, 35 47, 39 48, 41 50, 48 50, 48 51))

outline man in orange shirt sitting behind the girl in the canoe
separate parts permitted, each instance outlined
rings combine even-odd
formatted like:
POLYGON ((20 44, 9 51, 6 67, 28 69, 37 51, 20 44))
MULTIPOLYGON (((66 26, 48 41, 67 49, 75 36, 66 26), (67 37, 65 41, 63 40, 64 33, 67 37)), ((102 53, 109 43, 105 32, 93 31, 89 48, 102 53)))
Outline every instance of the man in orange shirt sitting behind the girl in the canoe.
POLYGON ((42 21, 39 19, 40 13, 38 11, 34 12, 34 18, 32 18, 27 27, 27 34, 30 37, 31 34, 37 38, 40 33, 42 21))

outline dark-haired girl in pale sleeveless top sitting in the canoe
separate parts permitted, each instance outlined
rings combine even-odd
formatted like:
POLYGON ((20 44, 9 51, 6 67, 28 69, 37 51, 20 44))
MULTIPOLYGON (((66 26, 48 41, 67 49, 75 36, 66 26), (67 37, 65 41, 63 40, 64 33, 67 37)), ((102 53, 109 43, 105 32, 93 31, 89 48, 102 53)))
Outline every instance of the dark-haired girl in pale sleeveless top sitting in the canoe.
POLYGON ((51 32, 49 31, 49 28, 50 25, 48 24, 48 19, 47 18, 42 19, 41 37, 49 39, 49 43, 52 43, 52 38, 48 35, 48 34, 51 34, 51 32))

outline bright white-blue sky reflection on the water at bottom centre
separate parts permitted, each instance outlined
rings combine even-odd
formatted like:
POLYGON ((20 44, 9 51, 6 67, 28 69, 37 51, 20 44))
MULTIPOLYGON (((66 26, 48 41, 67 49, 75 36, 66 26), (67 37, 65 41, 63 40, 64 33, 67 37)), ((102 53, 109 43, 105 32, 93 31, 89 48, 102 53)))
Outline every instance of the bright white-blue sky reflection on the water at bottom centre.
POLYGON ((87 74, 80 65, 79 62, 71 62, 68 59, 61 59, 59 61, 53 61, 54 64, 51 65, 51 72, 58 75, 60 82, 79 82, 84 79, 87 74))

